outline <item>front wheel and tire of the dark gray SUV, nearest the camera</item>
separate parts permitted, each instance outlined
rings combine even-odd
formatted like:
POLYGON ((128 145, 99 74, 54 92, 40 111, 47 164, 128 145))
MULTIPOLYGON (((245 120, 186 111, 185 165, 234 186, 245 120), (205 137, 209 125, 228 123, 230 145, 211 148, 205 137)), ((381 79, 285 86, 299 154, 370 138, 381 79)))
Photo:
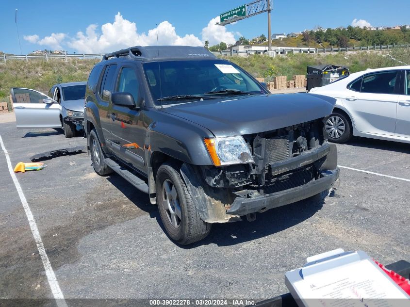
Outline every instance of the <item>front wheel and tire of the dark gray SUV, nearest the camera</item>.
POLYGON ((157 204, 166 233, 181 245, 204 239, 212 224, 201 220, 175 163, 161 165, 156 176, 157 204))

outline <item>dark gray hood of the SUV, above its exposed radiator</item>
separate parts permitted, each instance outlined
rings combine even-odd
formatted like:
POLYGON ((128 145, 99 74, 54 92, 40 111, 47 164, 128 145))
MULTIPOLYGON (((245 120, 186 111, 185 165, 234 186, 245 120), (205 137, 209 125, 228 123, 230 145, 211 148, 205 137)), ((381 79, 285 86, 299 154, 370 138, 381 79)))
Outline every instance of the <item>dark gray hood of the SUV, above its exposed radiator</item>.
POLYGON ((216 137, 270 131, 329 115, 336 99, 267 94, 183 103, 162 109, 209 129, 216 137))

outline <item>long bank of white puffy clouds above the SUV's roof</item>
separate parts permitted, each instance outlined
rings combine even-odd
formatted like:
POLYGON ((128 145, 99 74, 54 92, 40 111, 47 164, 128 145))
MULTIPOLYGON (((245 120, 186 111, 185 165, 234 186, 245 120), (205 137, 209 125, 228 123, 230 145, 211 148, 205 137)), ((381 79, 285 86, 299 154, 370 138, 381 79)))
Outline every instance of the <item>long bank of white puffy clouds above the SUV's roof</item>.
MULTIPOLYGON (((228 32, 224 26, 216 26, 219 16, 213 18, 208 26, 202 29, 202 39, 194 34, 180 36, 175 27, 168 21, 158 24, 158 42, 160 45, 203 46, 205 40, 210 46, 220 43, 235 43, 235 34, 228 32)), ((119 12, 113 23, 106 23, 98 29, 98 25, 91 24, 84 32, 77 32, 75 37, 65 33, 52 33, 42 39, 38 35, 27 35, 24 39, 33 44, 46 45, 50 48, 61 49, 62 45, 75 49, 77 52, 99 53, 127 48, 130 46, 149 46, 157 44, 157 28, 147 33, 139 33, 135 22, 125 19, 119 12)))

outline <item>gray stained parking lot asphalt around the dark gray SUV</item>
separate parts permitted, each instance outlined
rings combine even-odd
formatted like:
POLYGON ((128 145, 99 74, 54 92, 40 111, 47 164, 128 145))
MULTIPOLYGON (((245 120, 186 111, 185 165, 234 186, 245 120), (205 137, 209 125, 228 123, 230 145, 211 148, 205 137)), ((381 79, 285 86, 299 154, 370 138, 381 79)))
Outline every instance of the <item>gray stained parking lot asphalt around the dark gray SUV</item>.
MULTIPOLYGON (((13 167, 86 145, 53 129, 17 130, 1 116, 13 167)), ((342 166, 410 179, 408 144, 353 138, 338 155, 342 166)), ((254 222, 216 224, 204 241, 180 247, 164 234, 148 195, 117 175, 99 177, 86 153, 44 162, 16 177, 66 298, 260 300, 288 292, 284 273, 331 249, 364 250, 385 264, 410 260, 408 181, 341 169, 339 189, 323 204, 302 201, 254 222)), ((2 151, 0 172, 0 298, 52 298, 2 151)))

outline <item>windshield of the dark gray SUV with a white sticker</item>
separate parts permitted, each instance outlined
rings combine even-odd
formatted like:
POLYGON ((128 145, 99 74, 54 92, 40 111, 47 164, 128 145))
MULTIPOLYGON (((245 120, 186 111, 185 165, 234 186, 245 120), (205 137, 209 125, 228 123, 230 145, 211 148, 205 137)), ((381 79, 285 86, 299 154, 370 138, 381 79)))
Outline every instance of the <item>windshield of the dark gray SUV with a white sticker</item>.
POLYGON ((205 99, 266 93, 239 66, 225 60, 150 62, 144 64, 144 71, 157 105, 183 103, 186 102, 183 99, 197 96, 205 99), (183 99, 176 101, 181 97, 183 99))

